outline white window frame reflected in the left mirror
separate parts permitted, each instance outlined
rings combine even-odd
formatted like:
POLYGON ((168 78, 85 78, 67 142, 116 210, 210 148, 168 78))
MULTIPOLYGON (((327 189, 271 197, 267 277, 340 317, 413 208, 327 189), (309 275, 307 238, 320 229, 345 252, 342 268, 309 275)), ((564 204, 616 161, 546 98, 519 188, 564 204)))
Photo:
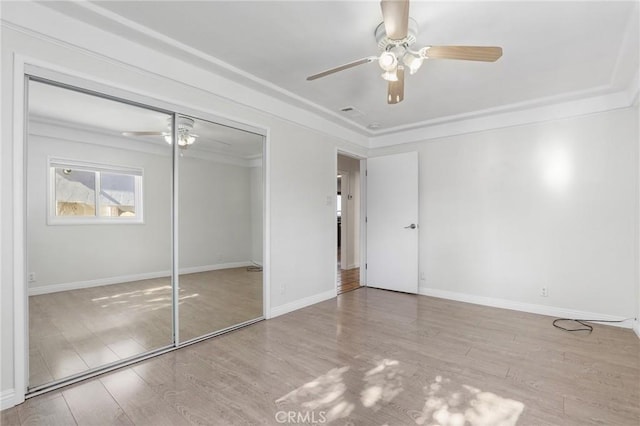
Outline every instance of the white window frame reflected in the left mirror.
POLYGON ((143 224, 143 196, 142 196, 142 180, 144 170, 138 167, 115 166, 110 164, 99 164, 81 160, 69 160, 61 158, 49 157, 47 161, 48 176, 48 225, 88 225, 88 224, 143 224), (56 206, 56 169, 66 168, 73 170, 82 170, 95 173, 95 216, 58 216, 56 206), (134 176, 135 178, 135 215, 134 216, 99 216, 100 213, 100 175, 102 173, 124 174, 134 176))

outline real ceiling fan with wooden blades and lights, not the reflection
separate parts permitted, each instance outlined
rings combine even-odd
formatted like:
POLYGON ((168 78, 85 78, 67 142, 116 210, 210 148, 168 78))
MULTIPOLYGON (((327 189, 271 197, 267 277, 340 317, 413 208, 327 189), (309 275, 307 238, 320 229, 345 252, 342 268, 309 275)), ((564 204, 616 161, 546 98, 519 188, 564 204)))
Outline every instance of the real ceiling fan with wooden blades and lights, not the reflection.
POLYGON ((397 104, 404 99, 405 68, 415 74, 425 59, 495 62, 502 56, 502 48, 497 46, 424 46, 414 50, 411 46, 416 42, 418 25, 409 17, 409 0, 382 0, 380 7, 383 22, 375 37, 382 53, 311 75, 308 81, 377 60, 382 78, 389 82, 387 103, 397 104))

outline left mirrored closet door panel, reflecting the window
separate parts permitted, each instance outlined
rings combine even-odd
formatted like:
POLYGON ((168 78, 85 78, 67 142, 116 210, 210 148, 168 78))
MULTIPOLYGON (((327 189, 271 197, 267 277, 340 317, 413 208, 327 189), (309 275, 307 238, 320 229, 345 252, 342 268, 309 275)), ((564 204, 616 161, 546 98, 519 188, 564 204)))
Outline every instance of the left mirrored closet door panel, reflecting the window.
POLYGON ((173 345, 171 114, 30 80, 28 386, 173 345), (131 134, 145 129, 149 134, 131 134))

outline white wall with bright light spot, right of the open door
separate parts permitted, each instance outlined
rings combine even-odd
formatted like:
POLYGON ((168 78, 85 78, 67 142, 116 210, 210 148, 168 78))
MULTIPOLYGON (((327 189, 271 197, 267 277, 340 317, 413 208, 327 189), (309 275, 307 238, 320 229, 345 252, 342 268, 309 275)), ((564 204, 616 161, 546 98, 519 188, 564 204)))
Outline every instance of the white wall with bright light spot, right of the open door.
POLYGON ((634 317, 637 123, 625 109, 374 150, 420 152, 421 292, 634 317))

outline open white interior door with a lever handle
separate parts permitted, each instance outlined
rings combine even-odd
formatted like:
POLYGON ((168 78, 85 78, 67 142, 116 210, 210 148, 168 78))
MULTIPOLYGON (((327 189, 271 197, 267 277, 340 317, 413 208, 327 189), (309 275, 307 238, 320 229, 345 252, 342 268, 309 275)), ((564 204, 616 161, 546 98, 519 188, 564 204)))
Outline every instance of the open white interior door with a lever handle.
POLYGON ((367 286, 418 292, 418 153, 367 160, 367 286))

